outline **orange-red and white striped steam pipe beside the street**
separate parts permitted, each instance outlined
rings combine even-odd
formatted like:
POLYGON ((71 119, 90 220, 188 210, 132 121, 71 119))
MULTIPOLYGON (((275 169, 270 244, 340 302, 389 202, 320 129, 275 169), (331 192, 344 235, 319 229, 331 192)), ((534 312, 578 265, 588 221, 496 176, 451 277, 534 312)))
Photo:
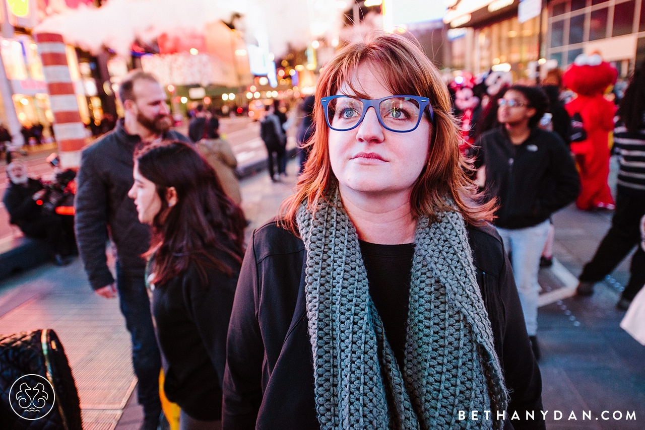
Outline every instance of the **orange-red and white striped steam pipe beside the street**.
POLYGON ((64 169, 79 168, 81 150, 86 144, 85 124, 81 121, 63 36, 39 33, 35 39, 43 60, 50 107, 54 113, 54 134, 61 166, 64 169))

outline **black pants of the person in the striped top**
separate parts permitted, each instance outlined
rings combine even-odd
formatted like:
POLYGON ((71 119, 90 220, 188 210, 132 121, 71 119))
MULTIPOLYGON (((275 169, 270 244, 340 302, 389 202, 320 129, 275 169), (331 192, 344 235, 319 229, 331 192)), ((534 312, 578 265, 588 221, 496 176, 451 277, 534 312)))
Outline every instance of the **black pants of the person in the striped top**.
POLYGON ((631 258, 630 281, 622 292, 622 298, 627 300, 635 297, 645 284, 645 251, 639 246, 640 219, 644 215, 645 197, 619 188, 611 228, 600 242, 593 259, 584 266, 581 281, 599 282, 604 279, 638 245, 631 258))

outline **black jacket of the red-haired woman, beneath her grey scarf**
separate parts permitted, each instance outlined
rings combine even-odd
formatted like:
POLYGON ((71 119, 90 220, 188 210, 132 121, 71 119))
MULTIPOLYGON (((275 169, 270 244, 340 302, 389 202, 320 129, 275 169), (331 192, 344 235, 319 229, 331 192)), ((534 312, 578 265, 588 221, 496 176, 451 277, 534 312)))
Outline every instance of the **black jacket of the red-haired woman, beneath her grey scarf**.
MULTIPOLYGON (((510 391, 509 416, 535 411, 515 429, 544 429, 542 380, 502 241, 493 227, 468 227, 477 282, 510 391)), ((304 297, 304 244, 269 222, 253 232, 228 328, 224 430, 319 429, 304 297)), ((455 414, 457 411, 455 411, 455 414)), ((512 429, 507 424, 506 430, 512 429)))

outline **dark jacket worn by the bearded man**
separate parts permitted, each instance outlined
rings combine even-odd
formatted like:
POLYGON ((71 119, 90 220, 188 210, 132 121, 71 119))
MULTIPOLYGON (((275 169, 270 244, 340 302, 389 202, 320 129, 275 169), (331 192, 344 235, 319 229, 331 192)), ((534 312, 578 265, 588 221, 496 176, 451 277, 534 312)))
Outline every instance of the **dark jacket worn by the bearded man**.
MULTIPOLYGON (((164 139, 190 142, 174 131, 166 133, 164 139)), ((123 119, 119 119, 112 132, 83 151, 74 200, 74 229, 79 255, 94 289, 114 282, 105 256, 108 229, 124 275, 143 277, 146 262, 141 254, 150 246, 150 228, 139 222, 134 201, 128 197, 134 184, 134 150, 140 142, 138 135, 125 131, 123 119)))

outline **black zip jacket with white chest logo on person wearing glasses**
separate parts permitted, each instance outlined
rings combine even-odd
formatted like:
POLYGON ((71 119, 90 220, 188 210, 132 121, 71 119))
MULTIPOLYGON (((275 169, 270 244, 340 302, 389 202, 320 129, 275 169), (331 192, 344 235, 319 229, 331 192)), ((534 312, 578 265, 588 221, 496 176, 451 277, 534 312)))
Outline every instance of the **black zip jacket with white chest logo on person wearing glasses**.
POLYGON ((497 197, 495 226, 536 226, 573 202, 580 192, 578 171, 562 139, 537 127, 513 145, 498 127, 479 137, 477 165, 486 168, 486 193, 497 197))

